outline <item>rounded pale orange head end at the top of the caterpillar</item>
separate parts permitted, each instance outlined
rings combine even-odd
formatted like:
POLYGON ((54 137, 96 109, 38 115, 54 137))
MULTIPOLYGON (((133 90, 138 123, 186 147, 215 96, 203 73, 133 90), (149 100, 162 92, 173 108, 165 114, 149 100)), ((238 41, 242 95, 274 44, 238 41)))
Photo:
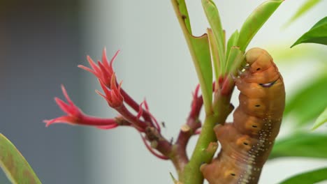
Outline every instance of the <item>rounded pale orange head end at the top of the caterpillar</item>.
POLYGON ((273 58, 266 50, 254 47, 245 54, 245 59, 249 64, 250 72, 261 72, 267 70, 273 64, 273 58))

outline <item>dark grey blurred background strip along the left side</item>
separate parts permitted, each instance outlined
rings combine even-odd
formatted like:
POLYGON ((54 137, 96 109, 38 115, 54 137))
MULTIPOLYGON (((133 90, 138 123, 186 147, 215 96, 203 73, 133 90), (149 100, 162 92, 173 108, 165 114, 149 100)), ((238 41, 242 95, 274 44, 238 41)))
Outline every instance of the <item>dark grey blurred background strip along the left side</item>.
MULTIPOLYGON (((42 122, 62 113, 60 84, 82 105, 80 1, 1 1, 0 132, 43 183, 85 183, 85 131, 42 122)), ((8 183, 0 172, 0 183, 8 183)))

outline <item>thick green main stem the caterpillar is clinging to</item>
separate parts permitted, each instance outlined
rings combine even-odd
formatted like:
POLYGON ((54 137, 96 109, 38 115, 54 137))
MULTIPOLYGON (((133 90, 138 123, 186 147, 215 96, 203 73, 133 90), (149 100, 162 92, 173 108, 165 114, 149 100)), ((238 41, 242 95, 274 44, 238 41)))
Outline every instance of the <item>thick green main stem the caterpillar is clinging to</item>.
MULTIPOLYGON (((219 91, 217 91, 219 93, 219 91)), ((213 128, 217 124, 224 124, 228 114, 231 113, 231 94, 218 95, 217 96, 217 108, 219 109, 217 114, 207 114, 201 134, 198 137, 196 148, 194 149, 191 160, 184 168, 184 174, 180 181, 184 184, 201 184, 203 183, 203 175, 201 174, 200 167, 203 163, 208 163, 212 160, 215 151, 209 151, 207 149, 210 142, 216 142, 217 138, 213 128)))

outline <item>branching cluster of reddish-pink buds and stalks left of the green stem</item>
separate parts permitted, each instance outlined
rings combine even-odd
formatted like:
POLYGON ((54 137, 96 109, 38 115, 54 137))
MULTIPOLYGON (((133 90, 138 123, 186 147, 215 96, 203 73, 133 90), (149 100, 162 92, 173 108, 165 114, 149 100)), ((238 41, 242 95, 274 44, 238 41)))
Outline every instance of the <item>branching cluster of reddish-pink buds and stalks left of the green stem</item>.
POLYGON ((112 63, 115 61, 117 54, 115 53, 110 61, 107 59, 106 48, 103 49, 102 61, 95 63, 90 56, 87 56, 90 68, 79 65, 79 68, 91 72, 98 80, 101 85, 103 93, 96 90, 96 93, 101 95, 107 102, 108 105, 115 109, 119 116, 115 118, 97 118, 94 116, 87 116, 84 114, 69 98, 64 86, 61 86, 62 93, 67 102, 55 98, 57 105, 65 116, 45 120, 46 126, 48 127, 52 123, 68 123, 71 125, 90 125, 100 129, 112 129, 119 125, 131 126, 136 128, 145 143, 145 146, 150 150, 151 153, 161 159, 168 159, 168 151, 170 150, 170 144, 166 139, 161 136, 161 128, 157 119, 150 113, 147 102, 144 100, 140 104, 133 100, 131 96, 122 89, 122 82, 117 82, 115 71, 112 68, 112 63), (131 108, 128 108, 128 107, 131 108), (131 112, 133 109, 134 112, 131 112), (159 145, 160 148, 152 145, 159 145), (154 151, 154 148, 161 153, 154 151), (160 150, 163 148, 162 150, 160 150))

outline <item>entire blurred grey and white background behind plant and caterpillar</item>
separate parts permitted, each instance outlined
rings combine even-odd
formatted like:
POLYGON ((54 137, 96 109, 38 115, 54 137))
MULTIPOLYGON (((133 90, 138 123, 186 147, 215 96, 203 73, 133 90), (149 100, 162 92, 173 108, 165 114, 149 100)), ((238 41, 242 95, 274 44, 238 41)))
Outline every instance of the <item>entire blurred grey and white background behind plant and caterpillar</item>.
MULTIPOLYGON (((230 36, 262 1, 215 2, 230 36)), ((326 16, 324 1, 281 29, 301 3, 285 1, 249 47, 288 49, 326 16)), ((187 1, 187 5, 194 34, 200 36, 208 26, 201 1, 187 1)), ((76 68, 87 65, 87 54, 101 59, 104 46, 108 56, 121 50, 114 67, 124 89, 139 102, 146 98, 152 114, 166 124, 163 134, 168 139, 176 137, 189 112, 197 79, 168 0, 0 1, 0 132, 19 148, 43 183, 172 183, 168 175, 175 172, 172 164, 154 158, 136 130, 62 124, 45 128, 42 123, 62 114, 53 100, 54 96, 62 98, 60 84, 85 113, 116 115, 94 93, 100 89, 96 79, 76 68)), ((292 67, 282 62, 279 67, 287 95, 317 68, 305 59, 292 67)), ((238 105, 237 94, 233 104, 238 105)), ((281 136, 286 133, 284 128, 281 136)), ((326 162, 274 160, 265 166, 260 183, 277 183, 319 165, 326 162)), ((0 183, 8 183, 2 172, 0 183)))

